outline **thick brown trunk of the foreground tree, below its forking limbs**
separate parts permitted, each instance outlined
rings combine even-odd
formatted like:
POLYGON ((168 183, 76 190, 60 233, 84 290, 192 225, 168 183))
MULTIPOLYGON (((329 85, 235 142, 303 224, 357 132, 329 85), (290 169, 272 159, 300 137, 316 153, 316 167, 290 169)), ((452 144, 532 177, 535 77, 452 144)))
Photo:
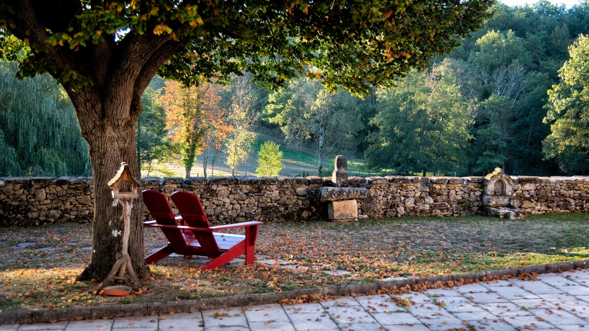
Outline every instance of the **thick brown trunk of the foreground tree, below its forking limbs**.
MULTIPOLYGON (((115 96, 113 96, 115 98, 115 96)), ((110 105, 95 105, 95 107, 112 107, 110 105)), ((86 107, 91 107, 87 105, 86 107)), ((82 127, 82 136, 90 147, 92 163, 92 179, 94 182, 94 221, 92 222, 92 256, 90 264, 77 280, 95 279, 98 282, 105 279, 116 262, 115 255, 123 247, 123 227, 121 219, 122 208, 115 203, 107 182, 114 177, 121 162, 129 165, 134 177, 139 178, 137 164, 137 150, 135 149, 135 118, 130 115, 128 105, 117 104, 123 111, 110 111, 118 114, 118 118, 103 118, 98 123, 90 123, 78 111, 78 120, 82 127), (88 134, 90 133, 91 134, 88 134)), ((141 107, 141 105, 138 105, 141 107)), ((85 107, 83 107, 85 108, 85 107)), ((82 110, 83 110, 82 108, 82 110)), ((76 107, 78 110, 78 107, 76 107)), ((128 254, 135 274, 142 278, 148 272, 145 264, 143 244, 143 203, 141 197, 134 203, 131 214, 131 233, 129 236, 128 254)))

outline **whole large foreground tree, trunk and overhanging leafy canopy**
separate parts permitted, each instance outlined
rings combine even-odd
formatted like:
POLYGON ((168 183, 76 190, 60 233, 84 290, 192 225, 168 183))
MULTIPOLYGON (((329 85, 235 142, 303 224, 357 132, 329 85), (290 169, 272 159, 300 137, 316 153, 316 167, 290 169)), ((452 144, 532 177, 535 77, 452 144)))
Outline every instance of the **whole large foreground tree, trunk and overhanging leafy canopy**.
MULTIPOLYGON (((492 2, 0 0, 0 42, 11 34, 29 47, 19 75, 57 78, 90 145, 94 239, 78 279, 104 279, 120 250, 112 227, 123 226, 121 210, 106 183, 121 161, 139 174, 134 125, 156 72, 194 85, 249 71, 262 86, 277 86, 313 64, 327 88, 366 92, 456 47, 492 2)), ((14 57, 15 47, 0 49, 14 57)), ((135 208, 129 253, 143 275, 140 214, 135 208)))

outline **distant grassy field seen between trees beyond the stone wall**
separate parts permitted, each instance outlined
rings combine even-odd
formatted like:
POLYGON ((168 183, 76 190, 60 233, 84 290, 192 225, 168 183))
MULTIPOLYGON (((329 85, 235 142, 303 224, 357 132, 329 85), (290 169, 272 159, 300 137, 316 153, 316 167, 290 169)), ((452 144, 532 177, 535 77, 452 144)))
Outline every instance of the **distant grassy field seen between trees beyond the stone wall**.
MULTIPOLYGON (((280 150, 283 153, 283 169, 280 171, 280 176, 317 176, 317 153, 313 151, 312 144, 305 142, 304 147, 292 147, 287 145, 284 142, 284 139, 280 137, 278 132, 274 132, 268 129, 265 130, 256 130, 256 143, 254 143, 254 148, 252 154, 246 161, 246 163, 242 164, 239 169, 237 170, 237 175, 250 175, 256 176, 256 168, 257 168, 257 154, 260 151, 260 145, 264 143, 264 141, 272 140, 277 144, 280 144, 280 150)), ((330 153, 326 155, 326 158, 323 162, 323 177, 331 176, 333 171, 333 162, 335 160, 336 153, 330 153)), ((357 155, 356 155, 357 156, 357 155)), ((196 160, 196 164, 191 171, 191 176, 198 177, 203 176, 203 166, 202 166, 202 156, 199 155, 196 160)), ((349 155, 348 157, 348 174, 349 176, 375 176, 380 175, 382 173, 370 173, 369 171, 362 169, 363 159, 362 158, 353 158, 349 155)), ((178 164, 167 164, 167 167, 174 172, 174 177, 185 177, 186 171, 184 167, 179 166, 178 164)), ((210 174, 210 167, 209 167, 210 174)), ((145 171, 141 173, 142 177, 147 176, 145 171)), ((161 174, 150 174, 150 176, 161 176, 161 174)), ((220 157, 217 159, 214 169, 213 169, 213 176, 231 176, 231 168, 229 168, 225 164, 225 155, 221 154, 220 157)))

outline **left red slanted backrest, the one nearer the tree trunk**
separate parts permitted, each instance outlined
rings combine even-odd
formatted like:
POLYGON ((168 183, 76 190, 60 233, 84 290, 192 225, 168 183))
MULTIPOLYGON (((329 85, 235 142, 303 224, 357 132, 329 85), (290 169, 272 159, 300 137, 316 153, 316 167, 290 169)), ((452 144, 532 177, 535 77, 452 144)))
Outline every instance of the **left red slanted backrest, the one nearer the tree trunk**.
MULTIPOLYGON (((176 219, 174 219, 174 212, 170 208, 168 199, 164 194, 154 190, 144 190, 141 194, 143 194, 143 203, 157 224, 178 225, 176 219)), ((184 239, 180 229, 160 229, 164 232, 168 241, 170 241, 175 253, 184 254, 188 251, 188 243, 186 243, 186 239, 184 239)))

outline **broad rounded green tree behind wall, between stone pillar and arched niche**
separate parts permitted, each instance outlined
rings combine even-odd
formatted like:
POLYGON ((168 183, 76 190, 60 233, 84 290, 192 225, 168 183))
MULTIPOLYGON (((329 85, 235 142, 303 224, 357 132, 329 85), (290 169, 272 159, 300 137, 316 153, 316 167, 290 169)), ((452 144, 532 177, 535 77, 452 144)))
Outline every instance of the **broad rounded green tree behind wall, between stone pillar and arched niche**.
POLYGON ((378 130, 366 152, 369 167, 424 176, 461 170, 472 115, 445 65, 427 74, 412 71, 398 87, 380 89, 377 108, 378 130))

